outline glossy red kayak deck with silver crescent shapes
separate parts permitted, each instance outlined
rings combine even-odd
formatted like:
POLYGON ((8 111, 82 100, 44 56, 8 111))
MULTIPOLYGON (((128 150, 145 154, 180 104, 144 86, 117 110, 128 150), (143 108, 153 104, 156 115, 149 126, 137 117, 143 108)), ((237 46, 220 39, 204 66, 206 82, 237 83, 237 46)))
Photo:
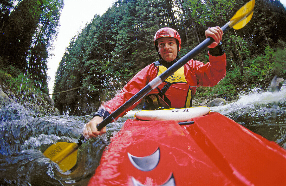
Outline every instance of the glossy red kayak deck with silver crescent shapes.
POLYGON ((286 185, 286 151, 219 113, 128 119, 89 185, 286 185))

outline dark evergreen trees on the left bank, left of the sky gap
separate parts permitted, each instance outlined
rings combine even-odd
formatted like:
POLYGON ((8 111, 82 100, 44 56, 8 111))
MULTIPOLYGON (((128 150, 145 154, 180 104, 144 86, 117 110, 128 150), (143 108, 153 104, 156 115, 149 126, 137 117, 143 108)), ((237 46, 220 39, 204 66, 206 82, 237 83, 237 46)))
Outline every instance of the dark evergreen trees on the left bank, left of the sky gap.
POLYGON ((2 0, 0 6, 0 80, 18 91, 48 93, 47 59, 63 0, 2 0))

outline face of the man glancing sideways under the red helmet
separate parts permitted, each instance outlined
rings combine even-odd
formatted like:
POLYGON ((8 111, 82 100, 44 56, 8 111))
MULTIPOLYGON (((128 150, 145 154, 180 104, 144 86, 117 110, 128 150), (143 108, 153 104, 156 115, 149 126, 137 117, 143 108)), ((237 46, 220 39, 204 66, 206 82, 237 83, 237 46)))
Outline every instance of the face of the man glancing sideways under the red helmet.
POLYGON ((173 61, 178 54, 176 39, 173 37, 162 37, 158 39, 158 49, 165 61, 173 61))

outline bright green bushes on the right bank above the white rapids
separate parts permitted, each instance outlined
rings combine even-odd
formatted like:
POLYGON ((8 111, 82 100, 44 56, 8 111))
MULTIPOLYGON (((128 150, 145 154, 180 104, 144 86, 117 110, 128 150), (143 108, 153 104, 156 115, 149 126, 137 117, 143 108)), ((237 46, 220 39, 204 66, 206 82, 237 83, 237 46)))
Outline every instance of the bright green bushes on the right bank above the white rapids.
MULTIPOLYGON (((274 49, 267 46, 265 54, 247 58, 245 71, 240 73, 239 67, 227 71, 226 77, 214 87, 198 87, 197 94, 204 97, 223 95, 226 99, 233 99, 241 90, 243 85, 262 85, 271 82, 274 75, 286 79, 286 48, 274 49)), ((268 83, 269 84, 269 83, 268 83)))

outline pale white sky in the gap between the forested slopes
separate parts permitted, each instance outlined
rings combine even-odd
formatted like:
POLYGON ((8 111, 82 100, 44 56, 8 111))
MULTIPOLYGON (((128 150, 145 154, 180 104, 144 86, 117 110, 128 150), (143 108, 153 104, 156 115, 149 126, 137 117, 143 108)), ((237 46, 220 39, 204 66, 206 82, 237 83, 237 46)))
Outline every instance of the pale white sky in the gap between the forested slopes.
MULTIPOLYGON (((90 23, 94 15, 104 14, 115 0, 64 0, 64 6, 59 18, 59 33, 54 41, 54 55, 49 57, 47 75, 51 77, 48 83, 49 93, 53 92, 55 73, 63 57, 70 39, 81 31, 86 23, 90 23)), ((285 0, 286 1, 286 0, 285 0)))

